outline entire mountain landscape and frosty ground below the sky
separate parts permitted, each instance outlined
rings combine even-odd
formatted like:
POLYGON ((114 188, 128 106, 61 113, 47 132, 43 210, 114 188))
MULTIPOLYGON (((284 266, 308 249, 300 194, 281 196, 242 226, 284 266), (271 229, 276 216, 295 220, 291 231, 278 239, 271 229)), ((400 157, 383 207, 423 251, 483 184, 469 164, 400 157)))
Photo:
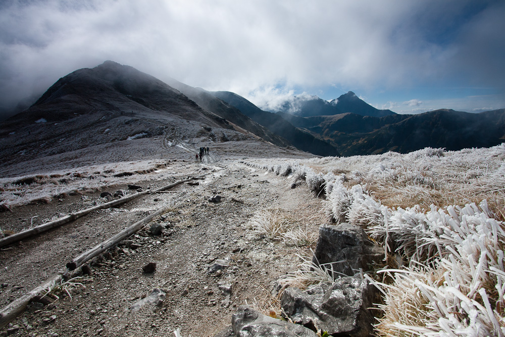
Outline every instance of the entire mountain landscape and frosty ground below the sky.
POLYGON ((505 111, 304 100, 106 61, 0 123, 0 336, 505 335, 505 111))

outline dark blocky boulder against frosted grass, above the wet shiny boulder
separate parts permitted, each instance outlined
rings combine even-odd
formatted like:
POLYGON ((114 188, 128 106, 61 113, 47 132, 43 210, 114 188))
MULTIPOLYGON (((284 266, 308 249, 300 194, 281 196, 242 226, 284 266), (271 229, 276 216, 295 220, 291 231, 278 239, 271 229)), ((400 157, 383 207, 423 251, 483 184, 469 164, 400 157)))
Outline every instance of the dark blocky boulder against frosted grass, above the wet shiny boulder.
POLYGON ((313 262, 326 264, 334 272, 348 276, 360 269, 371 270, 380 264, 384 251, 368 238, 363 228, 348 223, 321 225, 313 262))

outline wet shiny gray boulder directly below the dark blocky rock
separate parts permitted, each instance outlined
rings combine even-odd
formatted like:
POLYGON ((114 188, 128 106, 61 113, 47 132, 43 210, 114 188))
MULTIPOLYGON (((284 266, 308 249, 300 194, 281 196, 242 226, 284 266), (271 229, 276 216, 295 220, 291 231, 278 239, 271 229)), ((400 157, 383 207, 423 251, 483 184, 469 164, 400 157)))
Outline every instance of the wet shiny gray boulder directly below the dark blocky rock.
POLYGON ((361 275, 341 277, 333 284, 322 283, 300 291, 287 288, 281 307, 294 322, 317 326, 330 335, 368 336, 373 331, 373 306, 380 297, 377 288, 361 275))

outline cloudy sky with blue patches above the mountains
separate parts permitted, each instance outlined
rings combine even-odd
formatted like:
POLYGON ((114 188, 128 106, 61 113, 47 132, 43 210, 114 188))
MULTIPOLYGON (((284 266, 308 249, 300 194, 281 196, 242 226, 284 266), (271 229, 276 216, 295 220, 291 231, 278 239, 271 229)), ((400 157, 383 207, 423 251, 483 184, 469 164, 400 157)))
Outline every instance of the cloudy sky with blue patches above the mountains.
POLYGON ((0 108, 113 60, 266 108, 505 108, 505 1, 2 0, 0 108))

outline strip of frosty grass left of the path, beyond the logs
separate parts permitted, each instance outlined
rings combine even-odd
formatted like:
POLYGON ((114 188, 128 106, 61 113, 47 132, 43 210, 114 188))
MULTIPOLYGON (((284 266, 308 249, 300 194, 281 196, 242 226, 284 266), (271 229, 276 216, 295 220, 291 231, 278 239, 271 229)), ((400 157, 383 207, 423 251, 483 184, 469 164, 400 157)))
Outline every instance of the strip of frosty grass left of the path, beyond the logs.
POLYGON ((0 178, 0 207, 12 208, 32 202, 51 202, 65 194, 83 194, 108 186, 136 183, 146 173, 160 180, 171 172, 162 161, 137 161, 85 166, 71 171, 0 178))

